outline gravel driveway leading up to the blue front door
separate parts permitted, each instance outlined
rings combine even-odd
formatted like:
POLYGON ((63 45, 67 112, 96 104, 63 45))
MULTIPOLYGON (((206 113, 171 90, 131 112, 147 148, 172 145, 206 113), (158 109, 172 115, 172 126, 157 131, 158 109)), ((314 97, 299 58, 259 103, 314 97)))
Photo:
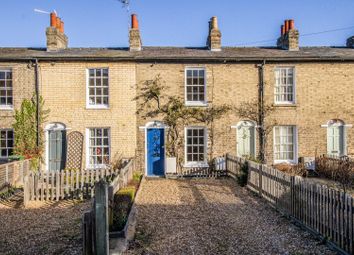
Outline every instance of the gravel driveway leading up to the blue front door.
POLYGON ((126 254, 335 254, 231 179, 144 180, 126 254))

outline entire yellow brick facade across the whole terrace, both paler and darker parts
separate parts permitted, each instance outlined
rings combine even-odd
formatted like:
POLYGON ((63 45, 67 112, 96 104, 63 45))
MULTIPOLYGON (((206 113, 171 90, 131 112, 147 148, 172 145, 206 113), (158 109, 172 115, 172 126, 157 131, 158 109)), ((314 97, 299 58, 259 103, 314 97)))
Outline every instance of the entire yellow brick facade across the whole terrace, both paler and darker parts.
MULTIPOLYGON (((354 124, 354 64, 349 62, 266 63, 265 103, 274 104, 276 67, 295 68, 296 103, 275 106, 267 118, 277 125, 295 125, 297 128, 298 157, 315 156, 327 151, 326 128, 321 127, 331 119, 341 119, 354 124)), ((139 127, 151 119, 136 114, 139 102, 134 100, 146 80, 160 75, 168 87, 168 95, 184 99, 185 68, 203 67, 207 77, 208 105, 230 104, 238 107, 242 102, 258 98, 259 73, 255 63, 138 63, 138 62, 40 62, 40 93, 46 108, 51 110, 48 123, 63 123, 68 132, 79 131, 84 136, 86 128, 109 127, 111 158, 139 156, 144 168, 145 133, 139 127), (86 70, 109 68, 109 108, 86 108, 86 70)), ((23 98, 34 92, 34 69, 28 63, 1 63, 0 68, 13 70, 14 108, 23 98)), ((0 110, 0 128, 13 123, 13 111, 0 110)), ((236 153, 236 130, 232 128, 242 119, 234 111, 214 124, 216 138, 213 157, 236 153)), ((196 123, 202 125, 202 123, 196 123)), ((258 151, 258 137, 256 137, 258 151)), ((86 137, 85 137, 86 141, 86 137)), ((85 142, 84 141, 84 142, 85 142)), ((354 128, 346 129, 347 154, 354 155, 354 128)), ((184 155, 182 155, 184 156, 184 155)), ((273 133, 266 144, 268 163, 273 163, 273 133)), ((84 161, 86 146, 84 145, 84 161)), ((85 162, 84 162, 85 166, 85 162)))

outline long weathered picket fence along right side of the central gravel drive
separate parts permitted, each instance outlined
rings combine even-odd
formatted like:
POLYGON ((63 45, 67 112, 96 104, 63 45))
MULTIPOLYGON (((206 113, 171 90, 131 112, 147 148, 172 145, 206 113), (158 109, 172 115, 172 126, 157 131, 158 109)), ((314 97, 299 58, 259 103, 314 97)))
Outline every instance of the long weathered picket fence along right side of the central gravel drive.
POLYGON ((247 187, 279 211, 325 238, 342 253, 354 254, 354 199, 325 185, 228 154, 230 176, 248 164, 247 187))

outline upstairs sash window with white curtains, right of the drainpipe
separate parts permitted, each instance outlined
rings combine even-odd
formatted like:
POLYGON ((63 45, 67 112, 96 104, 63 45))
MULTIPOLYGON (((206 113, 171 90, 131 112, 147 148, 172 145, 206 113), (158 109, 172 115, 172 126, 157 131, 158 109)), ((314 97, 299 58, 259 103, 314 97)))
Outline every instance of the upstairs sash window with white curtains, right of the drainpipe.
POLYGON ((276 104, 295 103, 293 67, 279 67, 275 70, 274 101, 276 104))

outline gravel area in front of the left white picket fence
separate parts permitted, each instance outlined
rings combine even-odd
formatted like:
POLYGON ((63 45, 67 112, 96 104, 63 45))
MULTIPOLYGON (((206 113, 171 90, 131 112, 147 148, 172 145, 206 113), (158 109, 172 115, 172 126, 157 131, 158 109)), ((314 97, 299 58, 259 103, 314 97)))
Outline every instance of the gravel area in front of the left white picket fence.
POLYGON ((0 201, 0 254, 81 254, 81 215, 89 202, 0 201))

